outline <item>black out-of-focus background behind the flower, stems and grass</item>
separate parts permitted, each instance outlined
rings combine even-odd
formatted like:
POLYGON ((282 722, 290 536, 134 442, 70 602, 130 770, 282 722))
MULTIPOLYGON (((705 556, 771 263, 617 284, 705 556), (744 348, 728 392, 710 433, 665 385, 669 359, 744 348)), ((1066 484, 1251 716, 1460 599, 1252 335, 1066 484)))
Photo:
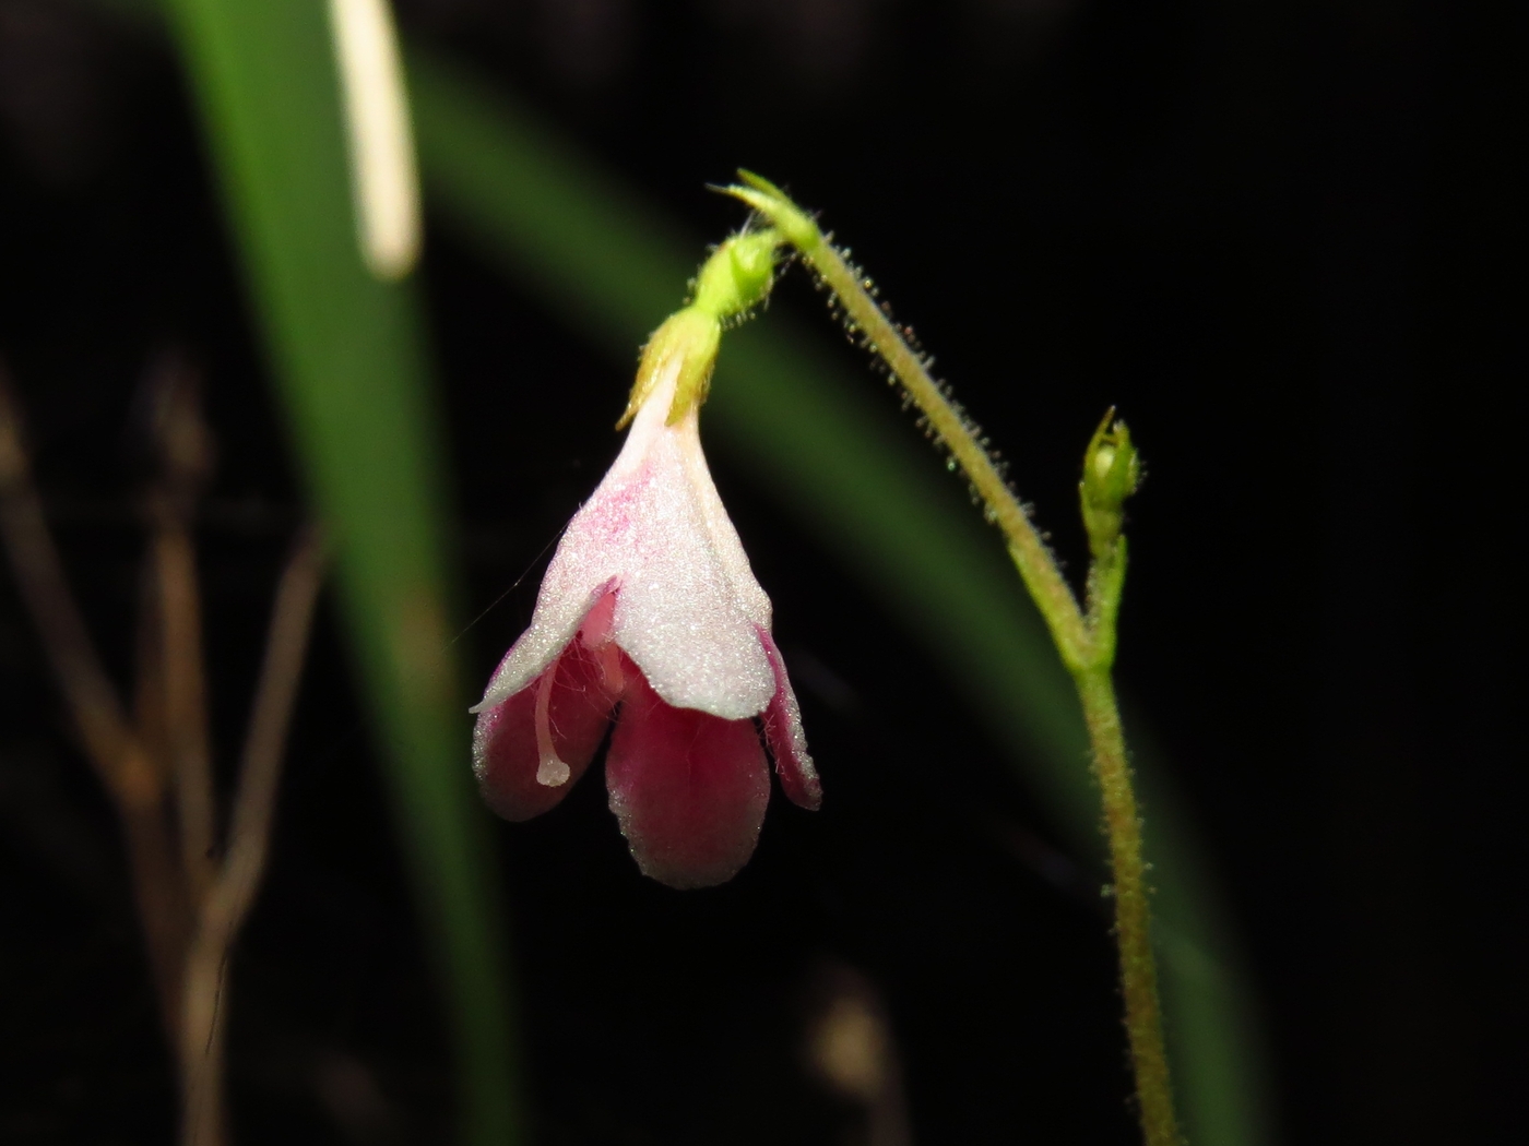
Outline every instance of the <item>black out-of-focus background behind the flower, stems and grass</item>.
MULTIPOLYGON (((740 163, 824 208, 1075 559, 1078 457, 1119 405, 1150 471, 1122 688, 1212 847, 1277 1135, 1520 1140, 1521 14, 399 9, 700 240, 737 223, 703 183, 740 163)), ((471 614, 531 568, 463 637, 486 675, 615 452, 630 367, 448 234, 428 235, 422 283, 471 614)), ((777 306, 816 318, 800 277, 777 306)), ((226 759, 300 506, 219 203, 151 26, 0 0, 0 356, 124 680, 139 394, 167 345, 202 364, 219 437, 202 571, 226 759)), ((636 874, 598 779, 498 830, 541 1140, 853 1140, 801 1050, 823 984, 853 969, 890 1015, 919 1141, 1131 1141, 1086 857, 1073 891, 1037 874, 1064 848, 960 697, 714 468, 775 599, 827 804, 777 798, 751 866, 687 895, 636 874)), ((9 575, 0 680, 0 1137, 164 1141, 173 1074, 115 824, 9 575)), ((237 1138, 440 1140, 443 1033, 327 619, 289 769, 232 972, 237 1138)))

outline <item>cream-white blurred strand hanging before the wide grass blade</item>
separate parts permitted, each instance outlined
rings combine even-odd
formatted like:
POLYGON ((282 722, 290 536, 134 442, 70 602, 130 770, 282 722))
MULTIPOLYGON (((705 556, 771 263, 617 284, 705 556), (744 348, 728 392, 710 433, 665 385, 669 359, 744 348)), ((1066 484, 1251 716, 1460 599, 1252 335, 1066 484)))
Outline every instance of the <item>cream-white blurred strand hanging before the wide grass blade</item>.
POLYGON ((350 148, 356 240, 384 281, 419 260, 419 168, 404 90, 398 28, 387 0, 329 0, 341 107, 350 148))

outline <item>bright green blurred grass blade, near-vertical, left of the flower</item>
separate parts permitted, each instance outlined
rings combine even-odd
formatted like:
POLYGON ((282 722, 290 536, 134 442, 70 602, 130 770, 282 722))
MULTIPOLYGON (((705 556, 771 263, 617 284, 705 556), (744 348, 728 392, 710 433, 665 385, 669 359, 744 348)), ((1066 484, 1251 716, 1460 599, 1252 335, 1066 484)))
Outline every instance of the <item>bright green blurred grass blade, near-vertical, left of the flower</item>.
POLYGON ((442 466, 419 306, 367 274, 317 0, 168 6, 272 373, 336 550, 457 1054, 463 1138, 520 1141, 497 897, 445 654, 442 466))

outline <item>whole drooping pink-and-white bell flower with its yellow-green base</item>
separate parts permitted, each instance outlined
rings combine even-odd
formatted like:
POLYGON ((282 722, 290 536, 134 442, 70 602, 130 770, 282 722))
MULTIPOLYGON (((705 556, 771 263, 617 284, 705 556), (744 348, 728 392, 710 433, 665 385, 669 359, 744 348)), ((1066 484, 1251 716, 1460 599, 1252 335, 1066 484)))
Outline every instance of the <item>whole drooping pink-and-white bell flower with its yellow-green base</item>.
POLYGON ((774 232, 708 260, 696 301, 648 341, 627 442, 569 523, 520 640, 489 680, 472 762, 489 807, 523 821, 584 773, 612 720, 610 808, 638 866, 674 888, 729 880, 769 799, 764 743, 792 802, 821 788, 797 697, 700 449, 723 321, 769 289, 774 232))

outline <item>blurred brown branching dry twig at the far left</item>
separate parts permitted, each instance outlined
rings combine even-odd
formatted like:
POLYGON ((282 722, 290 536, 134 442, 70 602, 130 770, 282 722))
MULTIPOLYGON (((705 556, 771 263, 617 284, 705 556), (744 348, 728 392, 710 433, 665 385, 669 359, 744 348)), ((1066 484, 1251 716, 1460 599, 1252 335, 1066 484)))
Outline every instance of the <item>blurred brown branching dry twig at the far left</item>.
POLYGON ((69 590, 32 481, 21 414, 0 365, 0 536, 84 750, 122 821, 144 943, 182 1088, 182 1141, 219 1146, 225 978, 265 872, 281 761, 307 651, 323 544, 300 532, 277 587, 226 848, 208 733, 193 520, 213 466, 197 377, 177 354, 150 374, 157 478, 139 616, 133 717, 69 590))

